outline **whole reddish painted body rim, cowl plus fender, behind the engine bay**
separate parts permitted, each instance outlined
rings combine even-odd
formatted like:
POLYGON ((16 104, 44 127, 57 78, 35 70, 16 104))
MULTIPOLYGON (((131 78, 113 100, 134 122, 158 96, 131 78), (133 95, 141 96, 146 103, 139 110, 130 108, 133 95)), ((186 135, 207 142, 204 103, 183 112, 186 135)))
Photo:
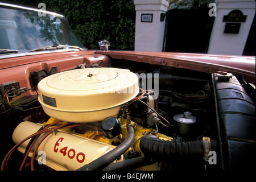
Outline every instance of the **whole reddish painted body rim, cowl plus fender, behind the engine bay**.
POLYGON ((206 73, 215 73, 217 71, 230 72, 233 73, 233 75, 243 75, 247 82, 255 84, 255 57, 253 56, 228 56, 171 52, 72 51, 0 59, 0 69, 43 62, 61 57, 93 55, 94 53, 108 55, 113 59, 126 59, 142 63, 166 65, 206 73))

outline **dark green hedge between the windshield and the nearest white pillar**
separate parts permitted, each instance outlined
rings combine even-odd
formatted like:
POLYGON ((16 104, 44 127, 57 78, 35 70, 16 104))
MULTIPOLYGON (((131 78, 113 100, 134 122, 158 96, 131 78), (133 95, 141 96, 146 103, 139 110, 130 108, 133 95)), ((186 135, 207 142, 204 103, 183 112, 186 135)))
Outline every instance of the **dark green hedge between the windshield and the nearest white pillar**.
POLYGON ((88 49, 98 49, 100 40, 109 40, 112 50, 134 50, 135 6, 133 0, 15 0, 22 5, 63 14, 88 49))

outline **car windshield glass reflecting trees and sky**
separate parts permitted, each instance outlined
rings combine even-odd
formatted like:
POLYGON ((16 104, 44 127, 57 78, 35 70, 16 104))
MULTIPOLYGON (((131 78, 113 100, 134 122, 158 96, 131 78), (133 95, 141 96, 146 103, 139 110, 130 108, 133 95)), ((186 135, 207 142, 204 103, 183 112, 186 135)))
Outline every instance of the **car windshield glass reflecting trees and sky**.
POLYGON ((0 49, 29 52, 56 44, 86 49, 65 18, 0 7, 0 49))

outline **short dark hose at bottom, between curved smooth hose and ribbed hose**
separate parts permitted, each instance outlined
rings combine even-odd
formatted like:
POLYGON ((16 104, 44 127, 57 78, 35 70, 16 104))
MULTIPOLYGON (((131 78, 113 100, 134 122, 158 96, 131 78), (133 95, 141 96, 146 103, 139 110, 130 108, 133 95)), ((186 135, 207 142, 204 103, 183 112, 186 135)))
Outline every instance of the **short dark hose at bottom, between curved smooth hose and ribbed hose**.
POLYGON ((115 171, 119 169, 125 168, 138 168, 142 166, 147 166, 149 164, 155 163, 150 158, 146 156, 140 156, 138 158, 123 160, 118 163, 109 164, 109 166, 105 167, 102 171, 115 171))

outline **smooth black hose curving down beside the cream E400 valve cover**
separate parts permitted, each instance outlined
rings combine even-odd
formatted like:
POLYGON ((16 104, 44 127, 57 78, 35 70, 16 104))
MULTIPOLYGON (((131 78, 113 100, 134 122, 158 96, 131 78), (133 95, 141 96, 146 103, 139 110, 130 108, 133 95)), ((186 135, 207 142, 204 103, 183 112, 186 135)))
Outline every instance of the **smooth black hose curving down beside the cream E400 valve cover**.
POLYGON ((122 154, 124 154, 133 144, 134 142, 134 129, 133 126, 127 125, 127 138, 123 143, 114 148, 112 151, 109 151, 105 155, 102 155, 100 158, 93 160, 89 164, 85 164, 85 166, 80 167, 76 171, 94 171, 94 170, 102 170, 108 164, 112 163, 115 159, 119 158, 122 154))

